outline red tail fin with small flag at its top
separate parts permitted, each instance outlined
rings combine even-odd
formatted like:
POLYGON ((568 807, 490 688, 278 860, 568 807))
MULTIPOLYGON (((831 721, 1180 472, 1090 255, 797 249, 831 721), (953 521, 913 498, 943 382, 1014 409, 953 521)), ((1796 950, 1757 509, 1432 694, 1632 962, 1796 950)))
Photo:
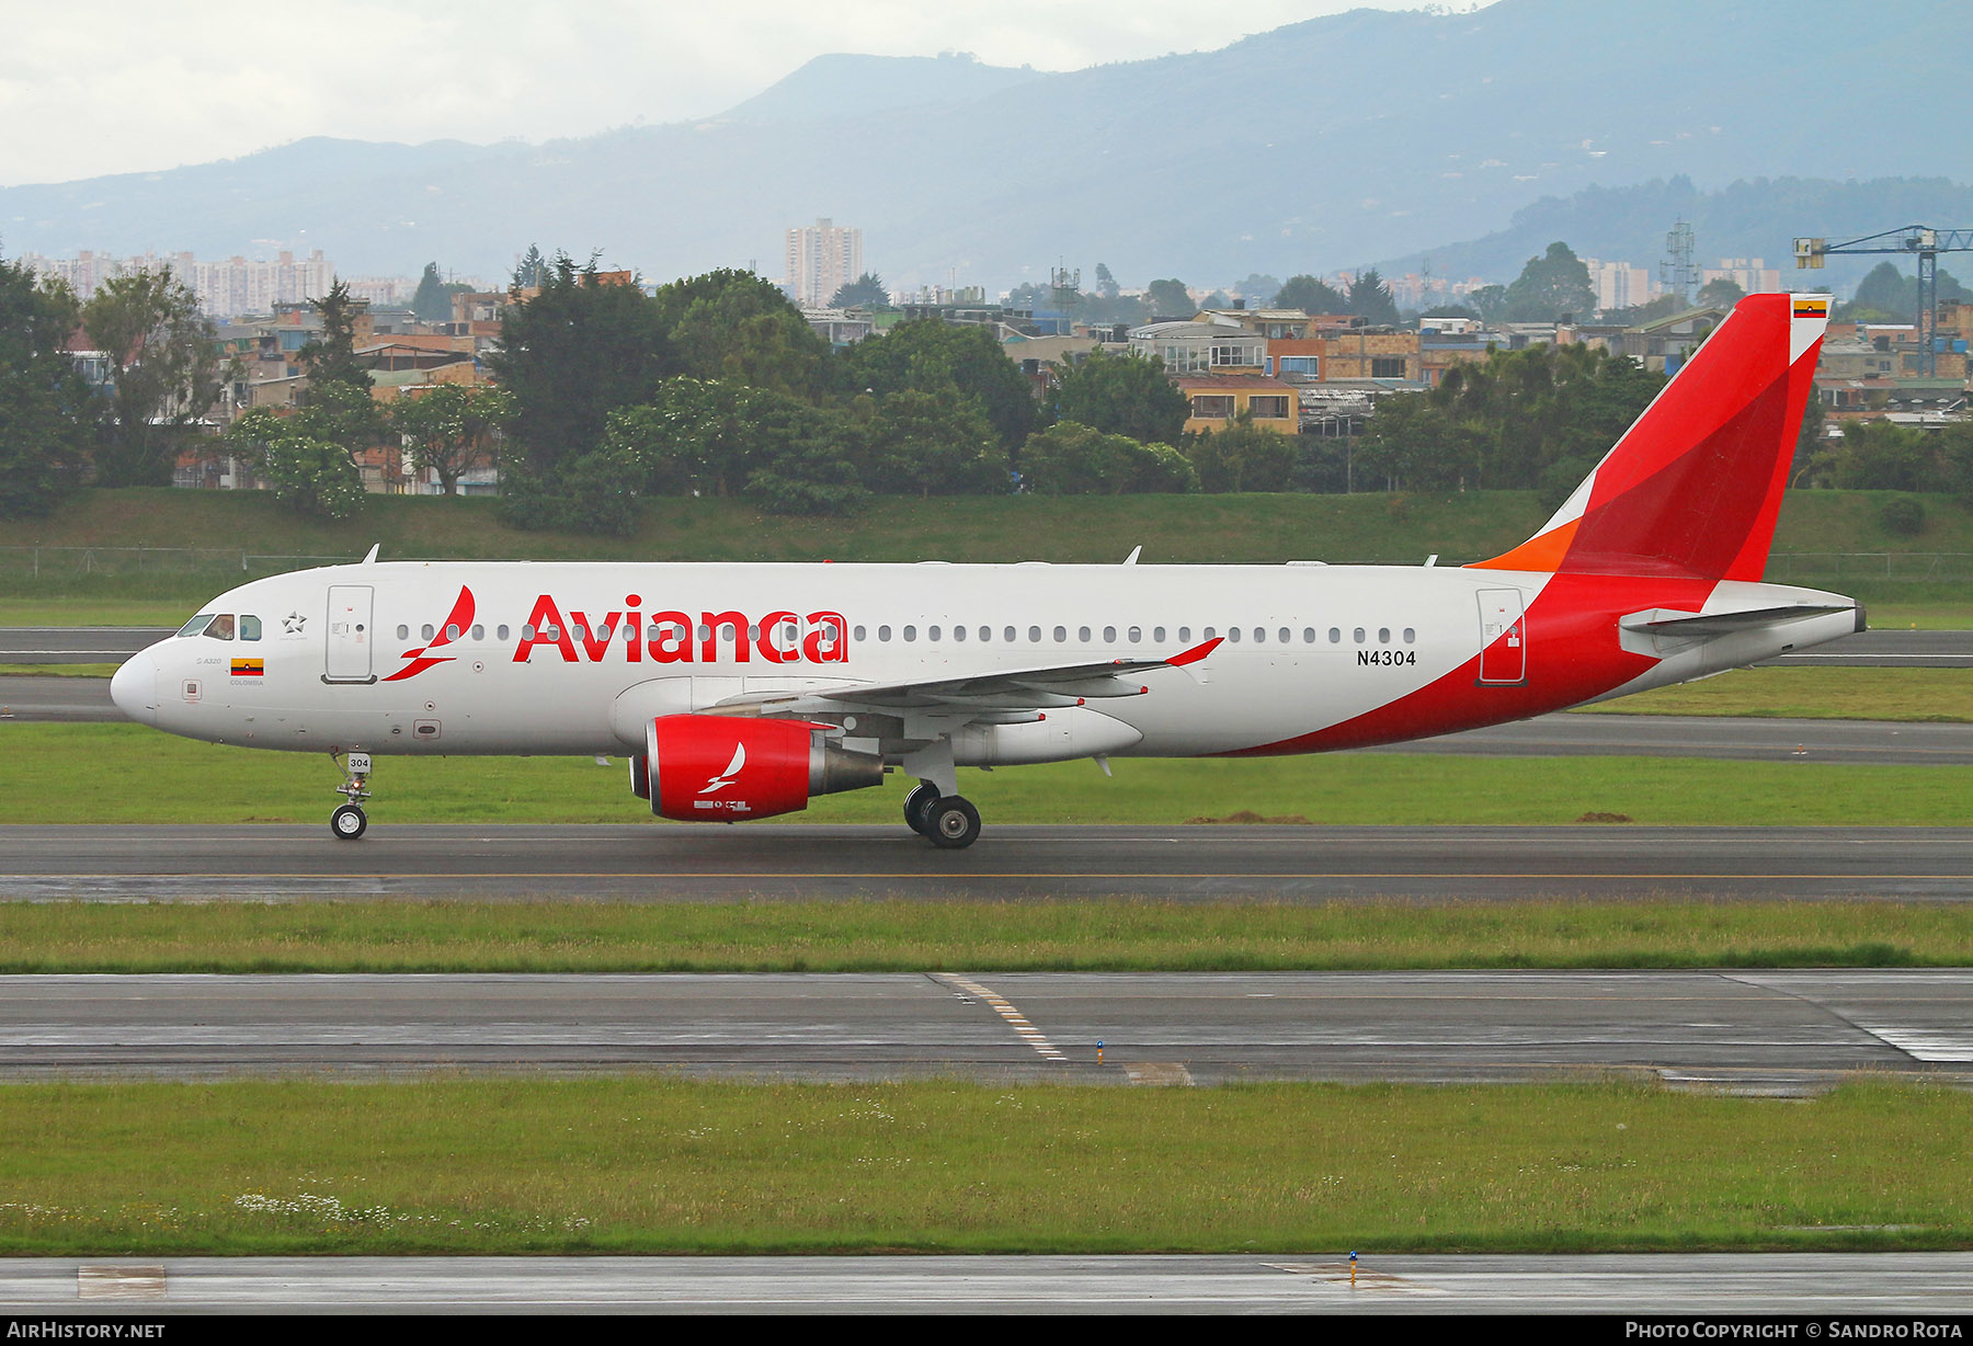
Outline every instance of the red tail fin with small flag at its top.
POLYGON ((1750 294, 1555 517, 1488 570, 1758 580, 1793 460, 1825 294, 1750 294))

